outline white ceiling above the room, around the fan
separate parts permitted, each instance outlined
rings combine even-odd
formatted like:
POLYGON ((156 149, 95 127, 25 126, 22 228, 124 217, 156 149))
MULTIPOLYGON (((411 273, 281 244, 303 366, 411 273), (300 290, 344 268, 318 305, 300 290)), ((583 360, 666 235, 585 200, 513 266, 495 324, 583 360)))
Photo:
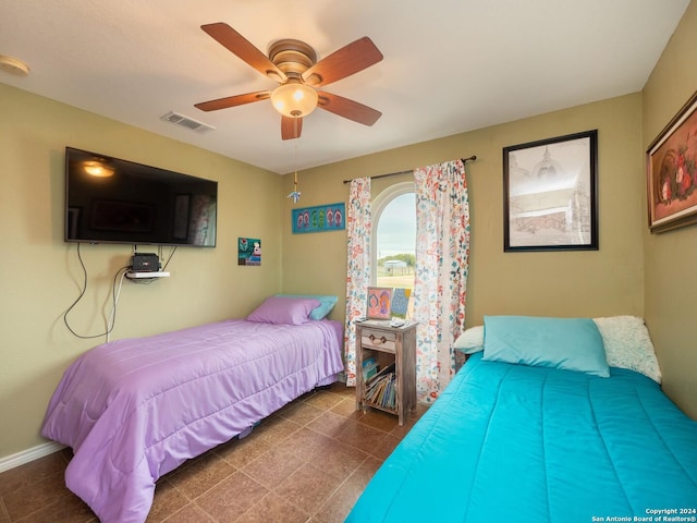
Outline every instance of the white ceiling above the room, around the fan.
POLYGON ((0 71, 0 82, 286 173, 638 92, 688 3, 0 0, 0 54, 30 68, 0 71), (277 85, 200 29, 213 22, 264 52, 304 40, 319 59, 369 36, 384 59, 325 90, 382 118, 365 126, 318 109, 299 139, 282 141, 269 100, 199 111, 194 104, 277 85), (162 121, 169 111, 216 130, 162 121))

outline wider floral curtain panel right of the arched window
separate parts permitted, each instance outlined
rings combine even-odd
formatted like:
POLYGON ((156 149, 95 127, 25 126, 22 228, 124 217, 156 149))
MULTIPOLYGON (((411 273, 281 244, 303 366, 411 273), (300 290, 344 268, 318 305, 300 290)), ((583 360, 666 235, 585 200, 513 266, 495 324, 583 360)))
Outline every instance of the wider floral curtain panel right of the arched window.
POLYGON ((455 372, 452 344, 465 325, 469 200, 462 160, 416 169, 414 178, 416 390, 430 403, 455 372))

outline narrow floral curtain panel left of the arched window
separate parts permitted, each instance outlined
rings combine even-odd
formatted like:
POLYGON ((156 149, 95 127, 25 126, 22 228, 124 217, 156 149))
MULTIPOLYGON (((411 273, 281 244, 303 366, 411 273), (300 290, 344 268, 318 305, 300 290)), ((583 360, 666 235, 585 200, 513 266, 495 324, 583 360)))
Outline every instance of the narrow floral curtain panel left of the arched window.
POLYGON ((346 326, 344 329, 344 362, 346 385, 356 385, 356 324, 365 316, 368 285, 370 284, 370 179, 351 182, 346 235, 348 256, 346 270, 346 326))

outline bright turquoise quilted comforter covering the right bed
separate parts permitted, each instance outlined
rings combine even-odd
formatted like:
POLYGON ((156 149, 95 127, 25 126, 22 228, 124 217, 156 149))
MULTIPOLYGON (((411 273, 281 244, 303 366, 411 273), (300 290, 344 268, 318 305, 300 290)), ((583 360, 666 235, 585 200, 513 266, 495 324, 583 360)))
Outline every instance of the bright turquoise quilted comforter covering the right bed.
POLYGON ((697 422, 646 376, 610 374, 473 355, 346 521, 695 521, 697 422))

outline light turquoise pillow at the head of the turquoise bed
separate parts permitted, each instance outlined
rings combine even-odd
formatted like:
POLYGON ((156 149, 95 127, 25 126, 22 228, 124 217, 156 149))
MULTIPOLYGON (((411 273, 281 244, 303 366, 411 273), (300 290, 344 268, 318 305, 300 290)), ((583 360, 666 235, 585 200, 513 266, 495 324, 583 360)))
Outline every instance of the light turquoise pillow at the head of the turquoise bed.
POLYGON ((590 318, 485 316, 484 357, 610 377, 602 337, 590 318))

